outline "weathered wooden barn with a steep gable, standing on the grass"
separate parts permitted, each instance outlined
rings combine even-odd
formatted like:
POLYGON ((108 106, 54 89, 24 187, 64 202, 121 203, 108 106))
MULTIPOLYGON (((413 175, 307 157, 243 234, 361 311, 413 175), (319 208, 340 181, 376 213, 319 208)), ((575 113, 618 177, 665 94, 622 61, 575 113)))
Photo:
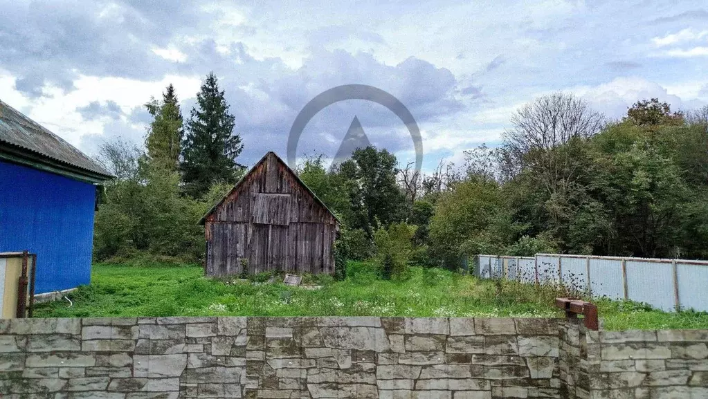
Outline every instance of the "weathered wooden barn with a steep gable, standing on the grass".
POLYGON ((202 217, 205 274, 333 273, 339 221, 275 153, 268 152, 202 217))

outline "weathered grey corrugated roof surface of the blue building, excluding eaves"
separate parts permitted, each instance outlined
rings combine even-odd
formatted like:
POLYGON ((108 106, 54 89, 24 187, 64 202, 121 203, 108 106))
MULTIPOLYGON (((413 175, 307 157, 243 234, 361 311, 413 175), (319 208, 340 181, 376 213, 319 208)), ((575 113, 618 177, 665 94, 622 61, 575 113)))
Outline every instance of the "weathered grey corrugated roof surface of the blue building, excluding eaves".
POLYGON ((39 154, 40 158, 66 163, 106 178, 113 177, 101 164, 86 156, 72 144, 42 127, 18 110, 0 100, 0 141, 23 151, 39 154))

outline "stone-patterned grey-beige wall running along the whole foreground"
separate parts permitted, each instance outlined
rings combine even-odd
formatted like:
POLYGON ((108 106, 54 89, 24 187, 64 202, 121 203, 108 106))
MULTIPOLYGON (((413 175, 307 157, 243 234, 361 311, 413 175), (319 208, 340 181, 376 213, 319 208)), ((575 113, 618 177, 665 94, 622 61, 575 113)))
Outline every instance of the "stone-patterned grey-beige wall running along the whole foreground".
POLYGON ((563 319, 0 320, 0 398, 708 398, 707 344, 563 319))

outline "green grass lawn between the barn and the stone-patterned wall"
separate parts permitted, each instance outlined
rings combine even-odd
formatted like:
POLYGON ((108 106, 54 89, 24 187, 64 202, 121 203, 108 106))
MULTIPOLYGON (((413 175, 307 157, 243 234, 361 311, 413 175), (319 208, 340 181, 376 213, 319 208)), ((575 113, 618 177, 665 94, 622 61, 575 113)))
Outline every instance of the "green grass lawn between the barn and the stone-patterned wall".
MULTIPOLYGON (((562 317, 552 307, 559 294, 554 289, 505 283, 500 294, 494 282, 439 269, 412 267, 408 279, 392 282, 378 279, 367 263, 350 262, 343 282, 329 276, 309 278, 323 287, 312 291, 279 283, 208 279, 195 266, 95 265, 91 284, 69 296, 73 306, 68 301, 40 304, 35 317, 562 317)), ((708 313, 597 303, 607 330, 708 328, 708 313)))

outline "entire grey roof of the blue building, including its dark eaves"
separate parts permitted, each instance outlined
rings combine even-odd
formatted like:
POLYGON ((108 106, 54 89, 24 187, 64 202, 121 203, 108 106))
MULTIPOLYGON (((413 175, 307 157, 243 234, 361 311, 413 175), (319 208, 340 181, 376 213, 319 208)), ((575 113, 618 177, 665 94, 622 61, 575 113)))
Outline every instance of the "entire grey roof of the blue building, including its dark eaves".
POLYGON ((1 100, 0 159, 91 183, 113 178, 98 162, 1 100))

